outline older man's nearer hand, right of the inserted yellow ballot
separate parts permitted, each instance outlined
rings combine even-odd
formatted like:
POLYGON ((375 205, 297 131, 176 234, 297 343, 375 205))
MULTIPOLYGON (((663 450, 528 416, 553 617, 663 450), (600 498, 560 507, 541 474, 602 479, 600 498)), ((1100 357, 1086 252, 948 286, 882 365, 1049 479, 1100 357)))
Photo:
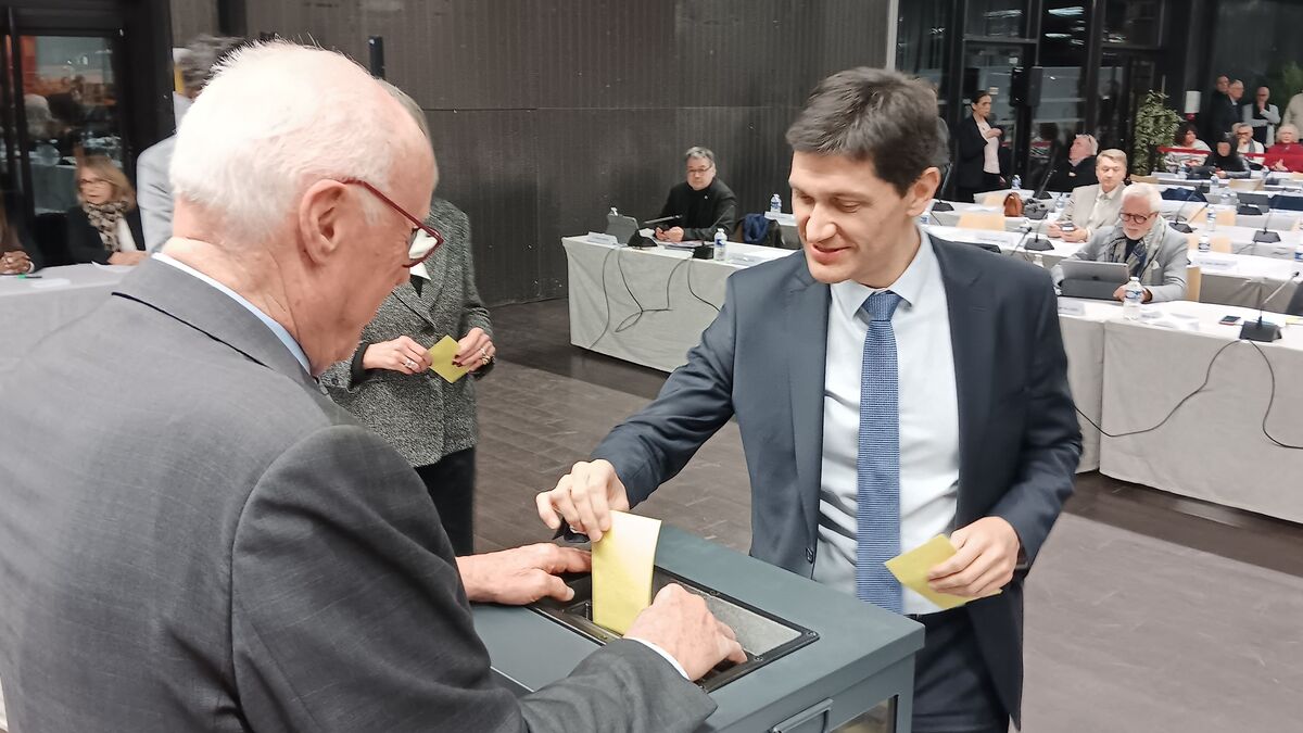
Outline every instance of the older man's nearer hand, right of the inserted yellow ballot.
POLYGON ((701 596, 674 583, 661 588, 624 638, 661 647, 683 666, 689 680, 700 680, 726 659, 739 664, 747 661, 747 652, 741 651, 732 629, 710 613, 701 596))

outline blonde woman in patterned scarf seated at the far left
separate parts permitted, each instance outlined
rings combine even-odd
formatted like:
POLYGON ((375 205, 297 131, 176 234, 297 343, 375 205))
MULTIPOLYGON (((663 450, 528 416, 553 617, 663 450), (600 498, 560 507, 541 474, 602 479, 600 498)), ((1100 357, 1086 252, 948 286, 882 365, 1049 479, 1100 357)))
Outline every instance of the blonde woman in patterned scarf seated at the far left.
POLYGON ((68 254, 74 263, 139 265, 145 252, 141 211, 126 175, 103 155, 77 166, 77 201, 68 210, 68 254))

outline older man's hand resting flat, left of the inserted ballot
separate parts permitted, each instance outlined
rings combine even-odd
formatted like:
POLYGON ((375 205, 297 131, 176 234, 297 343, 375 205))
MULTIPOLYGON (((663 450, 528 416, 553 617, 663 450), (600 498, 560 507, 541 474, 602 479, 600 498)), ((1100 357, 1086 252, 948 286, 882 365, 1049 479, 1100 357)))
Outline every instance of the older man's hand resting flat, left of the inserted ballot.
POLYGON ((537 544, 457 558, 466 597, 480 603, 525 605, 542 597, 575 597, 558 573, 586 573, 593 560, 575 548, 537 544))

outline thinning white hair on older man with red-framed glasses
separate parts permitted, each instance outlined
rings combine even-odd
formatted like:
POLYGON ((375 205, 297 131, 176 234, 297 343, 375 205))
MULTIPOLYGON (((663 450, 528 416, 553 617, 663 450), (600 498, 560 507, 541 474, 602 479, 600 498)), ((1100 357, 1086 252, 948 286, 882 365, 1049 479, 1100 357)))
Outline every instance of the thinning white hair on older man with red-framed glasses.
MULTIPOLYGON (((185 115, 172 155, 179 200, 220 217, 225 236, 263 241, 323 179, 387 190, 420 140, 407 115, 361 67, 332 51, 257 43, 218 65, 185 115)), ((369 217, 379 213, 364 197, 369 217)))

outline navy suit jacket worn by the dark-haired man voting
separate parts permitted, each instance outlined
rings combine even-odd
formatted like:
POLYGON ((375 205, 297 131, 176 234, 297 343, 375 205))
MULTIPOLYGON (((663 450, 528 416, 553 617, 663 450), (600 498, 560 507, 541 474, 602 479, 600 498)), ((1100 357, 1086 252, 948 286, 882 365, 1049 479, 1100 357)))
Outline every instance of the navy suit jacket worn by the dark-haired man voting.
MULTIPOLYGON (((1020 723, 1023 579, 1081 454, 1054 288, 1045 270, 932 237, 959 396, 958 527, 1002 516, 1027 565, 969 603, 1001 699, 1020 723)), ((638 503, 737 417, 752 486, 751 554, 810 576, 818 546, 823 366, 831 291, 803 252, 728 278, 724 307, 661 395, 594 450, 638 503)))

